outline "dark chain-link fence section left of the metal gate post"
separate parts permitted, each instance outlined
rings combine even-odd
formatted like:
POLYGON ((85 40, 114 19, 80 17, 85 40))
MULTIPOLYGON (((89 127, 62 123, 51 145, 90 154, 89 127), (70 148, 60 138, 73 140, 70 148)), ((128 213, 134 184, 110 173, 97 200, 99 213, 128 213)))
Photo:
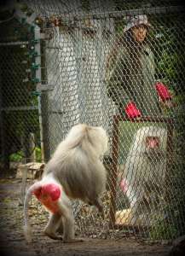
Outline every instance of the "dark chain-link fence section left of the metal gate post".
POLYGON ((0 29, 1 162, 9 168, 10 163, 30 161, 40 148, 38 96, 33 93, 32 31, 13 14, 0 29))

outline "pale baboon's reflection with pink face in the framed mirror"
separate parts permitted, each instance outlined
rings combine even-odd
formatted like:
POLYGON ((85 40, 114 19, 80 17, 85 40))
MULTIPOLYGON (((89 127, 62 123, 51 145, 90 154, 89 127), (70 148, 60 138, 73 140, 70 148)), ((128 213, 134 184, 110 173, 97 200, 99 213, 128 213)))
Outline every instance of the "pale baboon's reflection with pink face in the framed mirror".
POLYGON ((132 209, 132 224, 159 202, 165 182, 167 131, 144 126, 136 131, 120 186, 132 209))

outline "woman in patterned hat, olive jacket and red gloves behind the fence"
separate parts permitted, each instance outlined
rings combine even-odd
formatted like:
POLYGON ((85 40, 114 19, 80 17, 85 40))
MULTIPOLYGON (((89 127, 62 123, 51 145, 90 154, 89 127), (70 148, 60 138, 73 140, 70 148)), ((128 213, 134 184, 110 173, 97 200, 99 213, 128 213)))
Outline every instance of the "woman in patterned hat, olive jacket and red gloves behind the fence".
POLYGON ((171 92, 155 81, 153 51, 147 43, 147 15, 131 17, 107 61, 107 95, 129 118, 159 116, 171 108, 171 92))

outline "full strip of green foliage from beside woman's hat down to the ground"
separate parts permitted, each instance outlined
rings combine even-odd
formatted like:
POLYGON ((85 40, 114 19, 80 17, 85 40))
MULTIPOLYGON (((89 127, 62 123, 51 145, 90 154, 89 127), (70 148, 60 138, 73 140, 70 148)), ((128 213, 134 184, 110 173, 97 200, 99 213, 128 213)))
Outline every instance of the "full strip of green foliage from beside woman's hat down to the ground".
MULTIPOLYGON (((156 224, 150 230, 150 236, 154 240, 173 239, 185 234, 185 53, 182 27, 182 16, 173 17, 171 22, 169 16, 159 17, 159 31, 153 32, 151 41, 155 62, 157 63, 156 79, 167 84, 173 94, 173 102, 177 108, 172 109, 174 120, 174 144, 173 164, 168 165, 169 195, 165 201, 165 218, 159 216, 156 224), (162 22, 161 22, 162 20, 162 22), (162 26, 161 26, 162 23, 162 26)), ((169 110, 170 111, 170 110, 169 110)), ((166 113, 169 113, 166 111, 166 113)), ((164 214, 164 213, 163 213, 164 214)))

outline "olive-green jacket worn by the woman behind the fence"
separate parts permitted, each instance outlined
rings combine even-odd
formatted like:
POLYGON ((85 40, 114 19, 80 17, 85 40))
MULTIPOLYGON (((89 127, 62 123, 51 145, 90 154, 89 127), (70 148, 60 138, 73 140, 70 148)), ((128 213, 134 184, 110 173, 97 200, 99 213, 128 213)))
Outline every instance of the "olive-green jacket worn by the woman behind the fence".
MULTIPOLYGON (((138 110, 136 116, 159 116, 161 88, 156 88, 154 56, 151 49, 143 45, 138 54, 131 54, 130 48, 122 45, 110 62, 107 70, 107 94, 119 106, 119 113, 131 113, 134 104, 138 110)), ((162 85, 165 90, 165 85, 162 85)), ((166 91, 167 99, 167 88, 166 91)))

